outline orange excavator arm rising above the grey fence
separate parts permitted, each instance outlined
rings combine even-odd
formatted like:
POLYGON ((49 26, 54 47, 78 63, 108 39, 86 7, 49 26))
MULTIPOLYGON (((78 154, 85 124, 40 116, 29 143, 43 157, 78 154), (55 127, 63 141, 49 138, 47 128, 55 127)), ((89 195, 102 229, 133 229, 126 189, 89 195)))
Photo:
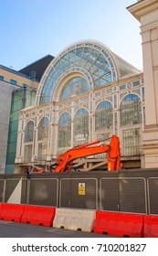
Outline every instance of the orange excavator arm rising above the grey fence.
MULTIPOLYGON (((102 140, 103 141, 103 140, 102 140)), ((111 136, 110 144, 100 144, 102 141, 97 140, 90 144, 81 144, 66 153, 58 155, 57 164, 54 168, 55 173, 70 172, 72 162, 78 158, 90 155, 98 155, 107 153, 108 158, 108 171, 118 171, 121 167, 120 157, 120 140, 116 135, 111 136), (99 145, 96 145, 99 144, 99 145)))

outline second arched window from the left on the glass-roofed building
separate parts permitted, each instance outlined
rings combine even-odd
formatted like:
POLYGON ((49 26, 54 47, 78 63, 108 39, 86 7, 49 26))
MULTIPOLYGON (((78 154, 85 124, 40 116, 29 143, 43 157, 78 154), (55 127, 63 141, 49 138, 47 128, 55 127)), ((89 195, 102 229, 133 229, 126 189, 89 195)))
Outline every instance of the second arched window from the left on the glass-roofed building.
POLYGON ((48 139, 48 118, 44 117, 40 120, 38 125, 38 154, 37 157, 40 160, 47 159, 47 139, 48 139))

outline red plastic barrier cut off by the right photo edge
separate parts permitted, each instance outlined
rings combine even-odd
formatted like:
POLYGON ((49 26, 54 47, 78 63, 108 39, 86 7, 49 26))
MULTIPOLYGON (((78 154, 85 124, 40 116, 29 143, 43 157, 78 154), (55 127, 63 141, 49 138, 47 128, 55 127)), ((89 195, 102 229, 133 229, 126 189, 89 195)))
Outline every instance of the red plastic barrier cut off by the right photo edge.
POLYGON ((143 237, 158 238, 158 216, 144 216, 143 237))

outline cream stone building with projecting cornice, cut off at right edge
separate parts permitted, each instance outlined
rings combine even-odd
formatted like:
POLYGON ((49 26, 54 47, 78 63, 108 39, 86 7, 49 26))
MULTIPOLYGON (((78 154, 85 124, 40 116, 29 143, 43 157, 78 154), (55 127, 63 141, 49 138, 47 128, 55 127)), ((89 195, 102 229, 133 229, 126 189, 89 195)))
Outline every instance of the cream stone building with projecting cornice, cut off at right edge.
POLYGON ((145 119, 142 150, 146 168, 158 166, 158 1, 142 0, 128 10, 141 24, 145 119))

